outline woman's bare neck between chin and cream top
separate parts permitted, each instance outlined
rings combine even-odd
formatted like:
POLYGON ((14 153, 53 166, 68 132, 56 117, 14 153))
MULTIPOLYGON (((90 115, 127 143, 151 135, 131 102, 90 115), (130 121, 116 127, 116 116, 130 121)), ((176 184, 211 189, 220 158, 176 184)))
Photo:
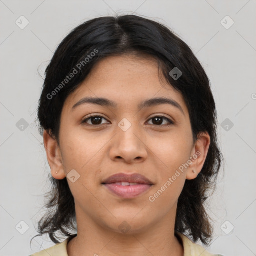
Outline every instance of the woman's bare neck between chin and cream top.
POLYGON ((80 228, 77 228, 77 236, 67 244, 68 256, 184 255, 182 242, 179 242, 174 234, 174 220, 170 221, 169 216, 166 221, 157 222, 147 230, 130 229, 127 233, 114 232, 96 222, 78 226, 80 228))

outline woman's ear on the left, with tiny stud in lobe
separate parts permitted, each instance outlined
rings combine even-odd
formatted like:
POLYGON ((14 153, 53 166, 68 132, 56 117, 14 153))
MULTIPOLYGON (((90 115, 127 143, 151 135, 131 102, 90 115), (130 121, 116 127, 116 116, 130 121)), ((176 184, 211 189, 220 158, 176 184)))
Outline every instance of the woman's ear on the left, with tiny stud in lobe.
POLYGON ((59 145, 56 139, 53 138, 46 130, 43 131, 43 143, 52 177, 55 179, 63 179, 65 177, 65 172, 62 165, 59 145))

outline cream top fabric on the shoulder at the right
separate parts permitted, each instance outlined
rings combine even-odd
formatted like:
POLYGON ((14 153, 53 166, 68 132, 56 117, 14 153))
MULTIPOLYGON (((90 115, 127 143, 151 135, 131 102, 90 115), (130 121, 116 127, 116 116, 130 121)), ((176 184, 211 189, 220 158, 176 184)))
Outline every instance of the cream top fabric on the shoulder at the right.
POLYGON ((212 254, 206 251, 201 245, 193 243, 187 236, 184 234, 175 231, 175 234, 180 237, 183 243, 184 256, 223 256, 220 254, 212 254))

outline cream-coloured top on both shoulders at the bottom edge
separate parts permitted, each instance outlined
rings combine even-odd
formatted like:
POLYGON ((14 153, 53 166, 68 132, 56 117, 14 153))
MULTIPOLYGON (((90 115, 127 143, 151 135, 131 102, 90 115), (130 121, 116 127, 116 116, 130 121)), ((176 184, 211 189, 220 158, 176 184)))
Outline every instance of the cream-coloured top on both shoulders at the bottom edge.
MULTIPOLYGON (((220 254, 212 254, 206 251, 205 248, 200 246, 199 244, 193 243, 187 236, 184 234, 181 234, 179 232, 175 232, 182 240, 183 248, 184 248, 184 256, 223 256, 220 254)), ((68 239, 71 237, 65 239, 61 243, 57 243, 56 245, 41 250, 39 252, 36 252, 29 256, 68 256, 66 246, 68 239)))

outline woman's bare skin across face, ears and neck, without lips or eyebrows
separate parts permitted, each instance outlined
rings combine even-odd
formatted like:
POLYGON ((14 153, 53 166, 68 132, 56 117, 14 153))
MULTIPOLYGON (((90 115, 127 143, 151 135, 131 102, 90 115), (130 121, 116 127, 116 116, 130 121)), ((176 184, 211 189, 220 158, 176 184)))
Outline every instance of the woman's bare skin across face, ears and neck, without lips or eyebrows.
POLYGON ((154 59, 121 55, 98 62, 64 103, 59 145, 46 131, 43 139, 54 178, 63 179, 72 169, 80 175, 74 183, 67 178, 77 220, 77 237, 67 244, 69 256, 183 255, 182 243, 174 235, 177 200, 185 180, 201 171, 210 137, 201 133, 193 143, 183 96, 160 79, 154 59), (72 110, 85 96, 113 100, 117 108, 86 103, 72 110), (171 98, 183 112, 169 104, 138 111, 138 103, 152 97, 171 98), (93 126, 93 118, 82 123, 93 113, 103 117, 99 124, 93 126), (153 116, 174 124, 166 126, 166 119, 157 122, 153 116), (131 124, 126 131, 118 126, 123 118, 131 124), (154 202, 149 201, 196 151, 201 154, 189 167, 154 202), (119 172, 140 173, 154 185, 135 198, 118 197, 101 182, 119 172), (130 227, 126 233, 118 228, 123 221, 130 227))

